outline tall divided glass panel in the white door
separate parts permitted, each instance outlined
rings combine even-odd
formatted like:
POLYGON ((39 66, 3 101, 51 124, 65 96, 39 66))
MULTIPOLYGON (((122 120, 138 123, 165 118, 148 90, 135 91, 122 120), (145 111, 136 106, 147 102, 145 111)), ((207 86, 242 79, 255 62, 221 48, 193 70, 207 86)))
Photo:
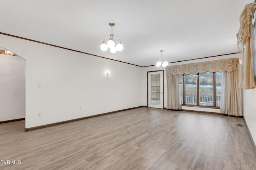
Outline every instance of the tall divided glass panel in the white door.
POLYGON ((160 74, 151 75, 151 104, 160 104, 160 74))

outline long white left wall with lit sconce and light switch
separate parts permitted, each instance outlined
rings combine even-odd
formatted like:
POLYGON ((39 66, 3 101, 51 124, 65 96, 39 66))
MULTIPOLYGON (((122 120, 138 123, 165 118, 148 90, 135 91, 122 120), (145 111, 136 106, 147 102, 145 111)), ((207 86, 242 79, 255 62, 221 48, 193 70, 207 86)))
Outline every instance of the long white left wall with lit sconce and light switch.
POLYGON ((142 106, 142 67, 6 35, 0 39, 0 46, 26 59, 26 128, 142 106))

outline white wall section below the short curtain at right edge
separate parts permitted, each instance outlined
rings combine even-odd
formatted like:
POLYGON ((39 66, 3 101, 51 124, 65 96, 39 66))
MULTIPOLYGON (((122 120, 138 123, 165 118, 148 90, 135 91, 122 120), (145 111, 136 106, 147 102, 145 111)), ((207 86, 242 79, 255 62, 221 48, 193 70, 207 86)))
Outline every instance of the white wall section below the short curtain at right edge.
POLYGON ((256 144, 256 89, 244 90, 244 119, 256 144))

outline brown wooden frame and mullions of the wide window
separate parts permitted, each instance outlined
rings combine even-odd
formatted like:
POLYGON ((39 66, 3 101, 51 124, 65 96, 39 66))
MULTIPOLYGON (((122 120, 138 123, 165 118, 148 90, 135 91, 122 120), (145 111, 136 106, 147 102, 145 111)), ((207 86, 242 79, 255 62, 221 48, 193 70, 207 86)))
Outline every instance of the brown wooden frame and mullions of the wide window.
MULTIPOLYGON (((188 106, 188 107, 204 107, 204 108, 214 108, 214 109, 220 109, 220 107, 216 106, 216 72, 213 72, 213 106, 200 106, 200 96, 199 94, 199 73, 196 74, 196 100, 197 100, 197 105, 190 105, 190 104, 185 104, 185 74, 182 75, 182 87, 183 87, 183 95, 182 95, 182 106, 188 106)), ((221 99, 220 99, 221 100, 221 99)))

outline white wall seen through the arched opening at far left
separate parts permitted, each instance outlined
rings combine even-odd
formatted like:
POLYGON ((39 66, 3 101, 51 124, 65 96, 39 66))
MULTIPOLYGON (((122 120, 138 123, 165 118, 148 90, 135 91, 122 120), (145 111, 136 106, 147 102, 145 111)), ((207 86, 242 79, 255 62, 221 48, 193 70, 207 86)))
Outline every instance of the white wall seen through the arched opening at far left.
POLYGON ((25 67, 24 59, 0 54, 0 121, 25 117, 25 67))

